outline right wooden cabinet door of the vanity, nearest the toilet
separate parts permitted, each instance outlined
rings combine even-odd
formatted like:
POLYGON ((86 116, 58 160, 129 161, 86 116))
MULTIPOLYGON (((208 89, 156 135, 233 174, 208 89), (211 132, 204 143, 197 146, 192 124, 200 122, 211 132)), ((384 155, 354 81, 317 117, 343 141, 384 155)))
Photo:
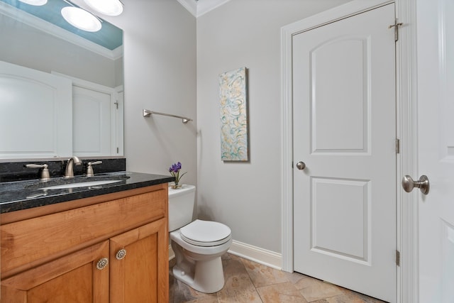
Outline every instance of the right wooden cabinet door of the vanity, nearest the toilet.
POLYGON ((160 219, 111 238, 111 303, 168 302, 167 233, 167 221, 160 219))

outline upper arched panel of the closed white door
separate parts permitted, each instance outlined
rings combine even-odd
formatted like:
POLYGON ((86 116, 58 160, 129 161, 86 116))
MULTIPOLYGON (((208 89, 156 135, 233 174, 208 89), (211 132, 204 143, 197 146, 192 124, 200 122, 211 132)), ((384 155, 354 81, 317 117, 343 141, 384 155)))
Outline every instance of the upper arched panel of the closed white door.
POLYGON ((367 38, 336 38, 309 54, 312 153, 367 151, 370 100, 365 92, 370 75, 362 60, 367 59, 368 44, 367 38), (350 73, 345 77, 347 70, 350 73))

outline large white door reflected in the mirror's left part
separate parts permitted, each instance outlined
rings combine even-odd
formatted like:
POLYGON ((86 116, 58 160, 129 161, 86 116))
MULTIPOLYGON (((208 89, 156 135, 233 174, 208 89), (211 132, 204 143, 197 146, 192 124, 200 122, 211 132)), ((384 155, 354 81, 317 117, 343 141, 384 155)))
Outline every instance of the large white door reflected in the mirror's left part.
POLYGON ((71 82, 0 61, 0 158, 72 155, 71 82))

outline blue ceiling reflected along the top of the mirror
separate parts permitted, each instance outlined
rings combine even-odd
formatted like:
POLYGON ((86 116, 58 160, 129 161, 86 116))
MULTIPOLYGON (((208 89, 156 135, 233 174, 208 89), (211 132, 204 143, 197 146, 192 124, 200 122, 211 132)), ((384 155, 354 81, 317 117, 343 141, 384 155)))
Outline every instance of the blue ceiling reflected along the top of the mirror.
POLYGON ((48 23, 52 23, 55 26, 63 28, 65 31, 79 35, 80 37, 92 41, 97 45, 101 45, 103 48, 106 48, 108 50, 115 50, 116 48, 121 47, 121 45, 123 44, 123 31, 120 28, 117 28, 113 24, 102 19, 102 28, 96 33, 82 31, 79 28, 75 28, 74 26, 70 25, 70 23, 67 23, 67 21, 65 21, 65 19, 62 17, 60 11, 63 7, 70 6, 70 4, 67 4, 67 2, 63 0, 48 0, 48 3, 43 6, 33 6, 25 4, 18 0, 0 1, 9 4, 10 6, 14 6, 16 7, 16 9, 20 9, 21 11, 24 11, 35 17, 43 19, 48 23))

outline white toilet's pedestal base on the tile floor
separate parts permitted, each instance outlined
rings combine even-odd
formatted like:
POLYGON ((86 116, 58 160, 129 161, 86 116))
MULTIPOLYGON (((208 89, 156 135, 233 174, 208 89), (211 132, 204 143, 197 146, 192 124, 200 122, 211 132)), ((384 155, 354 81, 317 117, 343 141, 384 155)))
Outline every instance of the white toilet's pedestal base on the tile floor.
POLYGON ((189 264, 186 261, 175 265, 172 272, 177 280, 199 292, 211 294, 222 290, 224 287, 221 257, 212 260, 194 261, 194 264, 189 264))

